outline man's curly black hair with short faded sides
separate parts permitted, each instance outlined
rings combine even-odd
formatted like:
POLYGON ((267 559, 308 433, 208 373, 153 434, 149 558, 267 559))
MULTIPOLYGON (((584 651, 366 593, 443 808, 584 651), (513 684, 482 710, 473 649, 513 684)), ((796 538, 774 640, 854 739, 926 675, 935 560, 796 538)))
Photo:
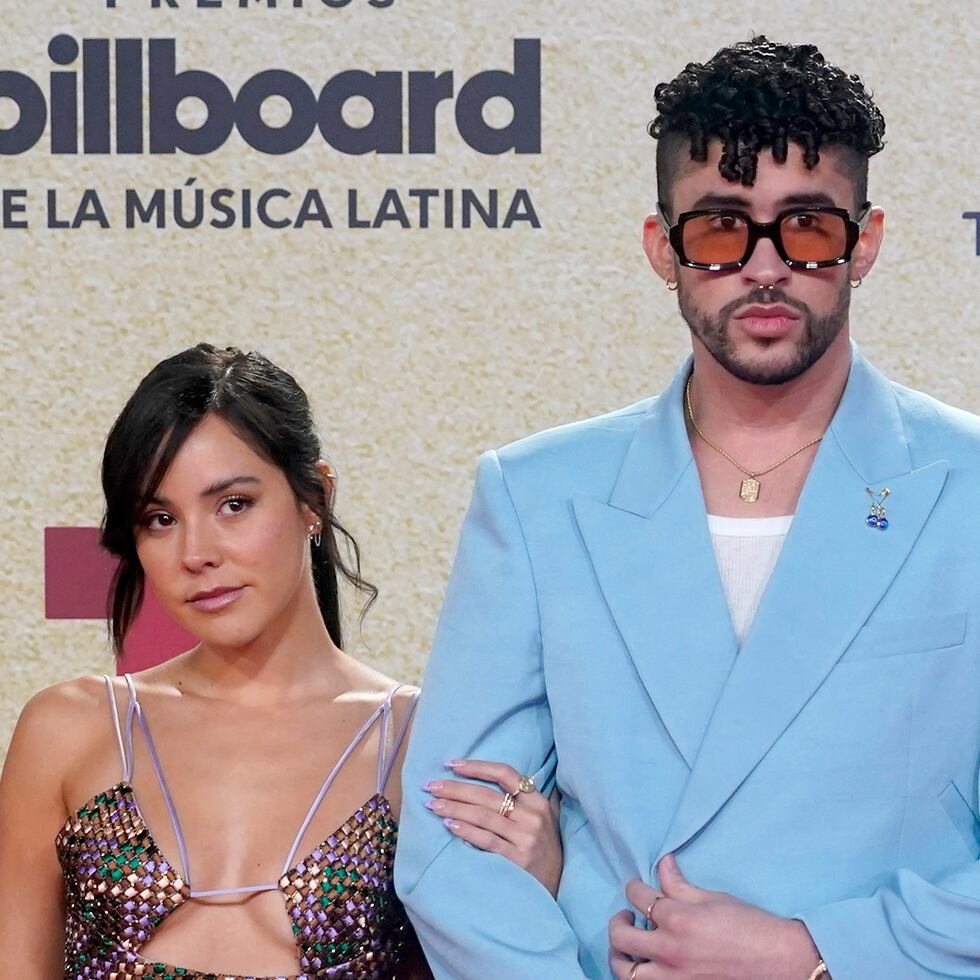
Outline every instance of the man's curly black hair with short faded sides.
POLYGON ((658 115, 648 129, 660 141, 657 185, 664 203, 685 145, 692 160, 705 160, 709 141, 721 140, 719 172, 746 186, 755 181, 762 149, 782 163, 792 140, 812 168, 821 147, 846 147, 858 202, 867 195, 868 158, 884 146, 885 120, 861 79, 830 64, 812 44, 753 37, 705 64, 689 64, 658 85, 654 97, 658 115))

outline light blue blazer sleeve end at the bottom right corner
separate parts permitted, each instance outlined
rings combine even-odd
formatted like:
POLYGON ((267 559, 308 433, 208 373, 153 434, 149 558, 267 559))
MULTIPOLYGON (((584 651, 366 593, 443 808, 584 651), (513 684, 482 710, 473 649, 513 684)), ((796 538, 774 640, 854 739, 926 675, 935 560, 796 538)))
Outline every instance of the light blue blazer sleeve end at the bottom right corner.
MULTIPOLYGON (((980 837, 980 825, 973 831, 980 837)), ((980 980, 980 862, 936 881, 898 871, 873 895, 797 916, 833 980, 980 980)))

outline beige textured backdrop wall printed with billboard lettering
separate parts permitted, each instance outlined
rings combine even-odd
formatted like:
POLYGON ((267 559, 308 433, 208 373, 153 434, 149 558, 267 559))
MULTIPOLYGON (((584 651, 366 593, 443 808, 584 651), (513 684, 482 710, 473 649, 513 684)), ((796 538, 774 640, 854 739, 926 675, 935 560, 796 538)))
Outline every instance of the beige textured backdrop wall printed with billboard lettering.
MULTIPOLYGON (((853 331, 980 410, 978 38, 945 8, 7 0, 2 26, 0 755, 34 691, 114 669, 103 440, 201 340, 310 393, 381 589, 350 649, 417 680, 479 452, 644 397, 688 348, 639 246, 653 89, 754 32, 873 89, 887 241, 853 331)), ((181 642, 148 608, 130 666, 181 642)))

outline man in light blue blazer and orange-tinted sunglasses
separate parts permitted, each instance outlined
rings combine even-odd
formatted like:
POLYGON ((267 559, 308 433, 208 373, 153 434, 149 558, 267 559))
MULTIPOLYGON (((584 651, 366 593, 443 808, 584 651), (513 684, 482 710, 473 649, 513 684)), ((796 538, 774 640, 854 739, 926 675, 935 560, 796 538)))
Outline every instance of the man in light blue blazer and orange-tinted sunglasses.
POLYGON ((980 421, 849 340, 884 122, 762 37, 657 105, 644 247, 693 356, 480 461, 400 893, 439 978, 980 977, 980 421), (460 757, 557 783, 557 901, 423 808, 460 757))

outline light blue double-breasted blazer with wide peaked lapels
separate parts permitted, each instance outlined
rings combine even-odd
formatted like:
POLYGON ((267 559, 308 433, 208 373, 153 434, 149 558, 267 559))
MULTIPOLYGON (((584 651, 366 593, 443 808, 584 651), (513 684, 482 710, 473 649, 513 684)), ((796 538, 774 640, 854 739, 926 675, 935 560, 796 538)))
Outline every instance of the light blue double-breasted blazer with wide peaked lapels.
POLYGON ((738 649, 689 370, 480 460, 395 868, 435 975, 610 977, 624 886, 673 851, 695 884, 802 919, 834 980, 978 978, 980 419, 855 348, 738 649), (891 490, 885 531, 869 485, 891 490), (557 902, 424 809, 457 757, 557 782, 557 902))

